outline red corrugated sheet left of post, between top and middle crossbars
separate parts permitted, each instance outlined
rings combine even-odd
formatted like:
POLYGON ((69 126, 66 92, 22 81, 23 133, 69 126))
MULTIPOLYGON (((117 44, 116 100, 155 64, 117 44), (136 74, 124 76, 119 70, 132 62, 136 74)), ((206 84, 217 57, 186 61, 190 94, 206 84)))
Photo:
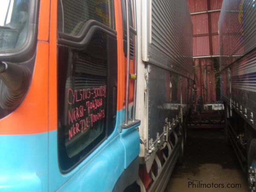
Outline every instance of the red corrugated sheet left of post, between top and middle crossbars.
POLYGON ((192 15, 193 35, 209 33, 208 14, 192 15))

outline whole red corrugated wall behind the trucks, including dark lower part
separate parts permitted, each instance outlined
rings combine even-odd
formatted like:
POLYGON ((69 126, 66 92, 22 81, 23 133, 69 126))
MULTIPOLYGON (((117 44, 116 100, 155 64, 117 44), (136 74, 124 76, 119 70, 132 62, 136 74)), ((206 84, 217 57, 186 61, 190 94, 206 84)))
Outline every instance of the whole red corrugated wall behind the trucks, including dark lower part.
MULTIPOLYGON (((223 0, 188 0, 193 22, 193 56, 218 56, 218 19, 223 0)), ((218 58, 195 58, 194 76, 198 96, 204 103, 220 99, 218 58)))

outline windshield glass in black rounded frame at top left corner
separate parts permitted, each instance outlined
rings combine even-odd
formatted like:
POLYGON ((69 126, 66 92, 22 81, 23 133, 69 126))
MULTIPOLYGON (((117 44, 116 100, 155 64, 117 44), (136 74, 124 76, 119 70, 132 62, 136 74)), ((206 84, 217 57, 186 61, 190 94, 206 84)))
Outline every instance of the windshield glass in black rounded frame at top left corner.
POLYGON ((21 47, 27 36, 30 0, 1 0, 0 50, 21 47))

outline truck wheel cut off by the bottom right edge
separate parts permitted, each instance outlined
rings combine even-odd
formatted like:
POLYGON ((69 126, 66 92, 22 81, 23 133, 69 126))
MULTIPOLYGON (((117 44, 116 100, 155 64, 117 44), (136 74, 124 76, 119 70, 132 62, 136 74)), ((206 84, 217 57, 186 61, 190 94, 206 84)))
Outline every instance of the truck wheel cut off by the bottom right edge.
POLYGON ((256 192, 256 139, 250 142, 247 167, 249 188, 252 192, 256 192))

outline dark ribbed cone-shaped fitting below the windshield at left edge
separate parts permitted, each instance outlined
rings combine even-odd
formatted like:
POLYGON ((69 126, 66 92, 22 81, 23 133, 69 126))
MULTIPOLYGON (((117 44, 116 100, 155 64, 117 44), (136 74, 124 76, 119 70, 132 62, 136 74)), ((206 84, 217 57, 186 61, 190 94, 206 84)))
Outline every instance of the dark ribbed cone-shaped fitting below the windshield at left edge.
POLYGON ((24 98, 30 79, 27 67, 0 61, 0 107, 15 109, 24 98))

